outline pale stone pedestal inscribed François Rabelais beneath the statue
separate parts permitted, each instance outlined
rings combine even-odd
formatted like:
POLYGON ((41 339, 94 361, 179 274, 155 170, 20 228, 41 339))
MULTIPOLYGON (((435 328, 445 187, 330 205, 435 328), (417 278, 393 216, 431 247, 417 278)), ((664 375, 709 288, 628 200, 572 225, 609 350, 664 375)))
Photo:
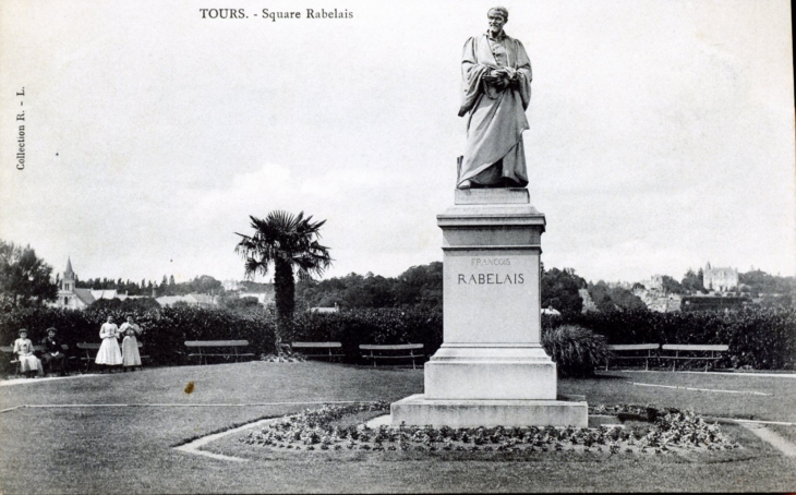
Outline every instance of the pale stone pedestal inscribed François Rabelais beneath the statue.
POLYGON ((541 345, 545 218, 528 190, 457 190, 437 225, 444 343, 425 364, 425 393, 391 406, 393 424, 586 426, 586 402, 557 400, 541 345))

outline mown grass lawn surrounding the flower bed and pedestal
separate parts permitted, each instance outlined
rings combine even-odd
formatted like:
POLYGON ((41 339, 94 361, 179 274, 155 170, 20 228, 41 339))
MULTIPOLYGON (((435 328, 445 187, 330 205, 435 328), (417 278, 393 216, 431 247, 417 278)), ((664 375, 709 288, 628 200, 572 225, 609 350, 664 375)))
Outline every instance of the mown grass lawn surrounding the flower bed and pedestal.
MULTIPOLYGON (((775 491, 796 488, 796 461, 740 426, 743 449, 632 456, 538 452, 522 458, 454 452, 273 452, 233 435, 207 449, 238 463, 173 450, 190 438, 310 407, 296 402, 395 401, 423 388, 422 370, 250 362, 150 369, 0 387, 2 493, 775 491), (193 383, 193 391, 185 393, 193 383), (160 405, 154 407, 141 405, 160 405), (167 406, 171 405, 171 406, 167 406), (210 407, 208 405, 226 405, 210 407), (236 406, 248 405, 248 406, 236 406), (183 407, 177 407, 183 406, 183 407)), ((723 418, 796 422, 796 379, 611 372, 559 382, 590 405, 655 403, 723 418), (772 394, 653 388, 631 382, 772 394)), ((785 427, 781 435, 791 435, 785 427)), ((239 434, 240 435, 240 434, 239 434)))

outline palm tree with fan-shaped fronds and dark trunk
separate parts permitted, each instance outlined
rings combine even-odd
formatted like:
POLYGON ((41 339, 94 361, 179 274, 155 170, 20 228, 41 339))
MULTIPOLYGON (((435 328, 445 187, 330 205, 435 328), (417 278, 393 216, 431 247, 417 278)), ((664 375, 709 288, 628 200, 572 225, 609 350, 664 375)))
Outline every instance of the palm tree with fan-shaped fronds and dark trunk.
POLYGON ((300 279, 306 280, 313 275, 323 275, 331 265, 329 249, 317 241, 326 220, 313 224, 312 216, 304 218, 304 212, 293 216, 281 210, 269 213, 264 220, 249 218, 252 219, 254 236, 236 232, 243 239, 234 251, 243 257, 249 278, 257 274, 267 275, 268 267, 274 265, 278 345, 296 307, 293 269, 298 270, 300 279))

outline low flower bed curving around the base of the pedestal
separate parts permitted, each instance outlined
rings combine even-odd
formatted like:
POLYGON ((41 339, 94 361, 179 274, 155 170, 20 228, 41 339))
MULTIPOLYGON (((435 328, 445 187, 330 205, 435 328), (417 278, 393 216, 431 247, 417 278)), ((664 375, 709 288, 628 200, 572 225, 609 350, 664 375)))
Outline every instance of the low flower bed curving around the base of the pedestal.
POLYGON ((287 416, 241 438, 249 445, 293 450, 419 450, 419 451, 578 451, 663 454, 676 450, 738 448, 717 424, 690 411, 654 407, 593 408, 592 413, 627 414, 625 425, 583 427, 388 426, 359 422, 389 411, 387 402, 324 406, 287 416))

